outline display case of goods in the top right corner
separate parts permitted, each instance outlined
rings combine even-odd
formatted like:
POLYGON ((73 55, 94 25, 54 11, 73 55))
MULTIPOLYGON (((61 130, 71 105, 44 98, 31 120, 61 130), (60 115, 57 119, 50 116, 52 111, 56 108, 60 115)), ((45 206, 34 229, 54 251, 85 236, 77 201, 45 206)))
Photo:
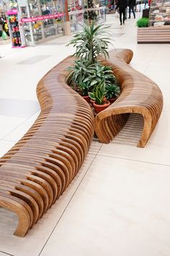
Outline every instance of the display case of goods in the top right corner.
POLYGON ((151 1, 149 26, 170 25, 170 0, 151 1))

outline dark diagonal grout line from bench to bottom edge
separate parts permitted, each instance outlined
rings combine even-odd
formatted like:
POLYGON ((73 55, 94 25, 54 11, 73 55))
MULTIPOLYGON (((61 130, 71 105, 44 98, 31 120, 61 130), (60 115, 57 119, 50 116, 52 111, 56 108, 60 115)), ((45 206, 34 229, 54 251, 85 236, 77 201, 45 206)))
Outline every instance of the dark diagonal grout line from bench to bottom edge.
MULTIPOLYGON (((94 159, 93 159, 93 161, 91 161, 91 164, 94 162, 94 160, 95 160, 96 157, 97 157, 97 154, 94 156, 94 159)), ((91 164, 89 165, 89 168, 91 167, 91 164)), ((45 242, 45 244, 43 245, 42 249, 40 250, 40 253, 38 254, 38 256, 41 255, 43 249, 45 248, 45 245, 48 243, 48 241, 49 241, 49 239, 50 239, 50 236, 52 236, 53 231, 55 230, 56 226, 58 226, 58 223, 61 221, 61 218, 63 217, 64 213, 66 212, 66 210, 67 210, 67 208, 68 208, 68 205, 70 204, 71 200, 73 199, 74 195, 76 194, 77 190, 79 189, 81 183, 82 183, 83 180, 84 180, 84 177, 85 177, 86 174, 88 173, 89 168, 87 168, 87 170, 86 170, 84 176, 82 177, 82 179, 81 179, 81 181, 80 181, 78 187, 76 187, 76 190, 73 192, 73 195, 71 196, 71 199, 68 201, 68 203, 67 203, 67 205, 66 205, 66 208, 63 210, 63 213, 61 214, 61 217, 58 219, 58 221, 57 221, 57 223, 55 224, 53 230, 50 232, 50 235, 48 236, 48 239, 47 239, 47 241, 45 242)))

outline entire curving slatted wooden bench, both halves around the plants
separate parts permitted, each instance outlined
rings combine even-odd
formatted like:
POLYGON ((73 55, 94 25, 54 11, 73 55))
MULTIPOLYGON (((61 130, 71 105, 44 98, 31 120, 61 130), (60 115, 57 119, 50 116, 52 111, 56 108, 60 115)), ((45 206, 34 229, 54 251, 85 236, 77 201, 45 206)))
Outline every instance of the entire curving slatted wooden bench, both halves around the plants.
POLYGON ((111 51, 109 65, 121 85, 120 97, 109 108, 94 114, 89 104, 66 83, 68 57, 51 69, 37 85, 41 112, 35 123, 11 150, 0 158, 0 207, 17 214, 17 236, 24 236, 65 191, 78 173, 95 132, 110 142, 125 125, 130 113, 141 114, 144 147, 163 106, 156 83, 128 64, 130 50, 111 51))

